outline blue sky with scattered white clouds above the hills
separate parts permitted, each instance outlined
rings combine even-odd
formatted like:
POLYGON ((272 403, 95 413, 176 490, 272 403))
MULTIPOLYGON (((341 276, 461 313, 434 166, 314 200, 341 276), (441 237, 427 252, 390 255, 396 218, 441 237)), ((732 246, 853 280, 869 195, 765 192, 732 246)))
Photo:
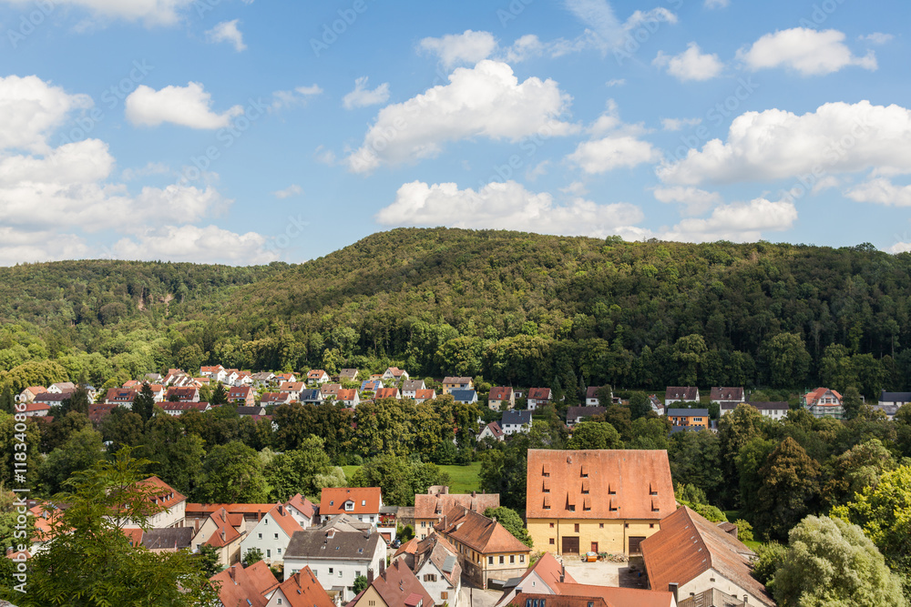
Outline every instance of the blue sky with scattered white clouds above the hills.
POLYGON ((0 0, 0 264, 398 226, 911 250, 909 12, 0 0))

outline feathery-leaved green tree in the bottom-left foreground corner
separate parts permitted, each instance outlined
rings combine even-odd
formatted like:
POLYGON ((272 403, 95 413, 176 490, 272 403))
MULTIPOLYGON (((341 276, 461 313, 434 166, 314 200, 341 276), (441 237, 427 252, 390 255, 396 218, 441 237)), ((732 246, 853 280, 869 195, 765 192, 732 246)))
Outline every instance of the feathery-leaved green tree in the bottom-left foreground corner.
POLYGON ((158 508, 150 499, 155 490, 136 484, 144 463, 121 450, 113 461, 78 471, 70 491, 56 496, 68 508, 51 523, 52 539, 28 561, 27 592, 0 587, 0 595, 20 607, 214 604, 199 557, 131 546, 122 531, 126 518, 148 529, 158 508), (125 518, 109 517, 115 509, 125 518))

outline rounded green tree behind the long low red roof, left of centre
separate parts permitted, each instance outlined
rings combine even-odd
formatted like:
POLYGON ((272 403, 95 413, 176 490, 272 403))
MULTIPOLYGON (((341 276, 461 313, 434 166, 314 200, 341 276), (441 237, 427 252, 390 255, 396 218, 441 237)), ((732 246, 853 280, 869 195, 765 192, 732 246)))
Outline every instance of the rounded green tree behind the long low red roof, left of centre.
POLYGON ((256 451, 238 441, 213 447, 203 462, 196 495, 209 503, 266 501, 266 481, 256 451))

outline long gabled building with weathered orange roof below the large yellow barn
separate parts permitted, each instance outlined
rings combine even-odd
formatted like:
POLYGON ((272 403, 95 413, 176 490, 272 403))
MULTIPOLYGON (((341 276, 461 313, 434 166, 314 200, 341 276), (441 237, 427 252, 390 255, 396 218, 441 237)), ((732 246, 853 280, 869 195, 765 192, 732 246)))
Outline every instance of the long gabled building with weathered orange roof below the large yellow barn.
POLYGON ((686 506, 664 517, 661 530, 642 541, 642 557, 655 590, 675 584, 679 597, 720 590, 751 605, 775 604, 751 575, 755 552, 686 506))

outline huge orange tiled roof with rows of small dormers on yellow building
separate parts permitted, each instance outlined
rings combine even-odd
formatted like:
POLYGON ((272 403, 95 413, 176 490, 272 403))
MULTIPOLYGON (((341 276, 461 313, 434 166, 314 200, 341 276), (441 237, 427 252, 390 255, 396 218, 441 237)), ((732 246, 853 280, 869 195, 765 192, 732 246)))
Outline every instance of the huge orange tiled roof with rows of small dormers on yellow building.
POLYGON ((529 449, 527 470, 528 519, 648 521, 677 507, 665 450, 529 449))

